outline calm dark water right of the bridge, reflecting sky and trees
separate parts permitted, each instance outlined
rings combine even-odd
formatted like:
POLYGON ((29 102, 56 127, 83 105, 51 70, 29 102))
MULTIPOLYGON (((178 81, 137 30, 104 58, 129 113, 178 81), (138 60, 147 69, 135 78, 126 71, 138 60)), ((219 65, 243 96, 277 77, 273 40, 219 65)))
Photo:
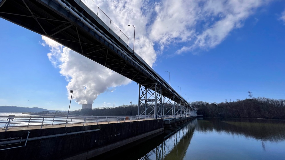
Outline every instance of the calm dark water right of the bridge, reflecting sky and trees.
POLYGON ((94 159, 285 159, 284 120, 194 119, 164 136, 94 159))

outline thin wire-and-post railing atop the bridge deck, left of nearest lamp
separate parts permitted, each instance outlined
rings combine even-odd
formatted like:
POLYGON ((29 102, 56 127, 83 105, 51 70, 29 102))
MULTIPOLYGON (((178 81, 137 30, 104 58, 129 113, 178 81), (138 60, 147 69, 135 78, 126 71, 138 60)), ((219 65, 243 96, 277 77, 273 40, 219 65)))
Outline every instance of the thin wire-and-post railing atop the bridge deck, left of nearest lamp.
POLYGON ((119 36, 120 39, 122 39, 127 45, 129 45, 129 38, 126 36, 126 34, 122 32, 122 30, 102 11, 102 9, 98 7, 98 5, 94 1, 93 3, 95 5, 95 9, 93 12, 96 14, 96 16, 109 26, 109 30, 112 30, 119 36))

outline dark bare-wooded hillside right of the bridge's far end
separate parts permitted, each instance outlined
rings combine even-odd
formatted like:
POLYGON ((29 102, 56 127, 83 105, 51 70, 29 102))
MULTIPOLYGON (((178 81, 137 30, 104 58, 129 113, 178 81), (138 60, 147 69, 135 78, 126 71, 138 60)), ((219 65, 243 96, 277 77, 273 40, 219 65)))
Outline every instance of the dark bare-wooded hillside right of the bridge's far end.
POLYGON ((258 97, 233 102, 196 101, 194 106, 205 117, 285 119, 285 100, 258 97))

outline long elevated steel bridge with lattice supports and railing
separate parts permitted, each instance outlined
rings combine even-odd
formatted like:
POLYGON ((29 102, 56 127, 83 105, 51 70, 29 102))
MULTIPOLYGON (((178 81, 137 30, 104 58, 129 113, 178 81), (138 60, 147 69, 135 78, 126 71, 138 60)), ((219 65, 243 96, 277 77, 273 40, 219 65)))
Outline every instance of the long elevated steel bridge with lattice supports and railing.
POLYGON ((1 18, 138 83, 138 115, 196 116, 196 108, 128 46, 128 37, 103 13, 99 7, 92 12, 80 0, 0 0, 1 18))

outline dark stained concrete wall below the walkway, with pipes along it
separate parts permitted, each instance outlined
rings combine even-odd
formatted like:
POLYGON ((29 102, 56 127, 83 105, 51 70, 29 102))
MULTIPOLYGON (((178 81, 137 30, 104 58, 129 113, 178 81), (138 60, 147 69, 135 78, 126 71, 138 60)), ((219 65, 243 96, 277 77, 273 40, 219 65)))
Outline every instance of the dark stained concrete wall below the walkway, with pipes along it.
MULTIPOLYGON (((28 139, 26 147, 0 151, 1 159, 87 159, 140 138, 163 133, 163 120, 0 132, 0 139, 26 138, 28 131, 30 132, 29 138, 35 139, 41 136, 96 129, 99 130, 32 141, 28 139)), ((14 146, 17 145, 0 146, 0 149, 14 146)))

